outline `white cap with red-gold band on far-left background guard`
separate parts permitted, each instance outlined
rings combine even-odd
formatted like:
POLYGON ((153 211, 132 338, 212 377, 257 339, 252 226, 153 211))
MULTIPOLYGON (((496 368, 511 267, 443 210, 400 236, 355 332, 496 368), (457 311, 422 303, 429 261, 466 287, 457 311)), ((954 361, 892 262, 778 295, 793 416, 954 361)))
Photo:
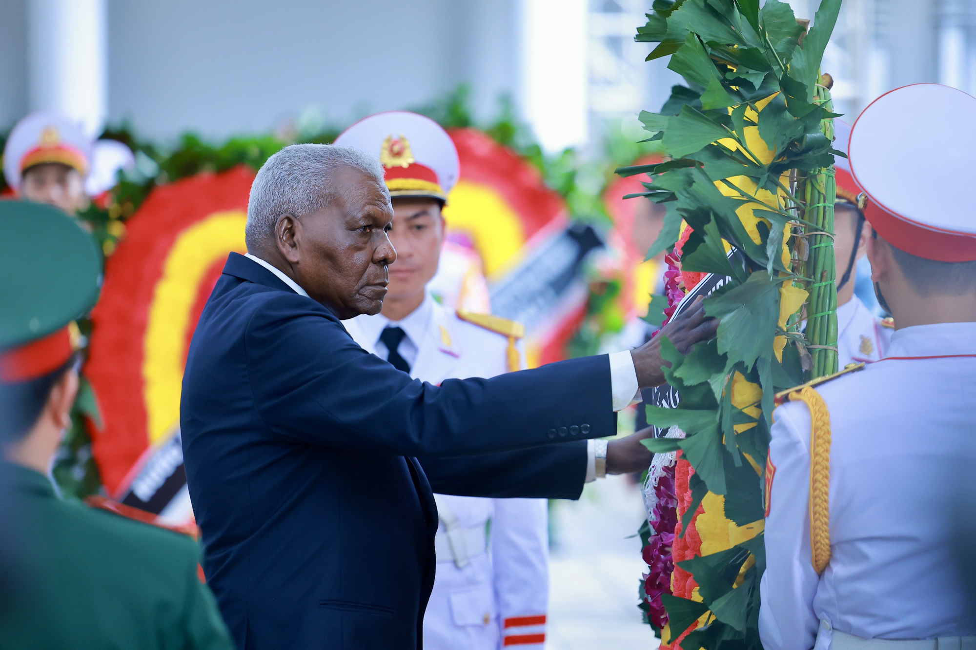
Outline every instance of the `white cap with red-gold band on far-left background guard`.
POLYGON ((92 139, 81 124, 49 111, 30 113, 10 132, 3 150, 3 173, 14 189, 20 189, 24 170, 43 163, 61 163, 88 176, 92 139))

